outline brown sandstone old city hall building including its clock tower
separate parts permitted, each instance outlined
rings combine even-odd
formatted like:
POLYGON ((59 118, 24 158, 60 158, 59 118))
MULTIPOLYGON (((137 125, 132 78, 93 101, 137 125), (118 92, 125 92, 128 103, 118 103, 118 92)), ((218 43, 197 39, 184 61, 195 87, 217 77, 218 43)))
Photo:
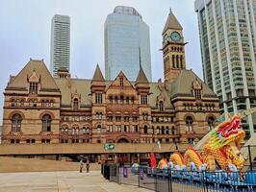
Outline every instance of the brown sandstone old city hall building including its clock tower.
POLYGON ((136 82, 120 71, 105 81, 99 66, 91 80, 66 69, 53 78, 43 60, 30 60, 4 91, 2 142, 178 143, 200 139, 218 117, 218 97, 186 69, 183 29, 170 11, 163 31, 165 81, 136 82))

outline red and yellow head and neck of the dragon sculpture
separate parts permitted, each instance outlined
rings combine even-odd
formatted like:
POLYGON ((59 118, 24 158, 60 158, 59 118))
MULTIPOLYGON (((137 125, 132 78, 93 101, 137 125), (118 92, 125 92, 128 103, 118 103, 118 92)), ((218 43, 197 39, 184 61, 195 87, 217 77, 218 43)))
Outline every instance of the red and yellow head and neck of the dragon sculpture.
POLYGON ((245 162, 240 153, 241 142, 245 136, 241 123, 241 117, 234 115, 231 119, 219 124, 210 142, 213 149, 219 150, 238 169, 241 169, 245 162))

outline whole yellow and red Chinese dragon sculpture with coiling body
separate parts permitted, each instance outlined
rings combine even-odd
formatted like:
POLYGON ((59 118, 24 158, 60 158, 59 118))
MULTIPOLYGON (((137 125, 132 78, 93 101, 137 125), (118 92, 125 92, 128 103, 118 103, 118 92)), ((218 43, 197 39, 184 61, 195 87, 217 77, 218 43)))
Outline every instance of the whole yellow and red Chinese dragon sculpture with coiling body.
POLYGON ((173 153, 170 162, 176 167, 185 165, 189 170, 216 171, 217 167, 226 171, 241 170, 245 163, 245 158, 240 153, 245 136, 241 122, 240 115, 232 116, 215 128, 200 152, 189 147, 184 156, 179 152, 173 153))

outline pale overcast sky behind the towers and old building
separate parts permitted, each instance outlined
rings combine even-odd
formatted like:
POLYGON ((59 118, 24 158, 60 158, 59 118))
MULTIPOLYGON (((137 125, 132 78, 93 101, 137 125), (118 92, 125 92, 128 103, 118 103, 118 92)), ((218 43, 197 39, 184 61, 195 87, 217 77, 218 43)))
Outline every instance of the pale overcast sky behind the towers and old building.
MULTIPOLYGON (((32 59, 50 66, 51 18, 71 18, 71 76, 90 79, 98 62, 104 70, 104 22, 115 6, 131 6, 141 13, 150 28, 153 81, 163 79, 162 31, 169 8, 183 26, 187 68, 202 78, 197 16, 193 0, 1 0, 0 5, 0 92, 10 75, 16 75, 32 59)), ((103 71, 103 74, 104 71, 103 71)), ((0 95, 2 123, 3 94, 0 95)))

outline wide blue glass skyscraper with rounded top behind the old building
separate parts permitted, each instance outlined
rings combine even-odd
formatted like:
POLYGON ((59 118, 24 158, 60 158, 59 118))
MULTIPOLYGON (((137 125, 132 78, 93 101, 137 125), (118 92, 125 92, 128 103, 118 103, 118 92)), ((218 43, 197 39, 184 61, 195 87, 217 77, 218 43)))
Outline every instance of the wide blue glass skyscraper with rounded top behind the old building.
POLYGON ((107 16, 104 33, 106 79, 114 80, 123 71, 130 81, 135 81, 141 57, 141 67, 151 82, 149 27, 141 14, 131 7, 115 7, 107 16))

